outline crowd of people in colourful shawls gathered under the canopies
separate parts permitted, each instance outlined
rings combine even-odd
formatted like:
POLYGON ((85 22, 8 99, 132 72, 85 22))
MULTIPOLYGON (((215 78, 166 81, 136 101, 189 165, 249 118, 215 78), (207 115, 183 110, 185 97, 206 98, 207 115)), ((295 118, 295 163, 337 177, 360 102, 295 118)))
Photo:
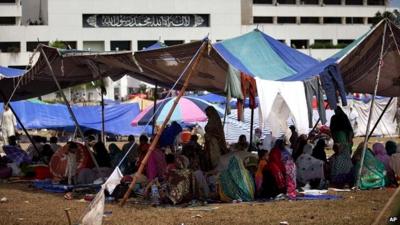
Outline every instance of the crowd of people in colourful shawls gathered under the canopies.
MULTIPOLYGON (((39 152, 33 146, 25 152, 10 138, 10 145, 4 146, 4 150, 8 160, 19 165, 49 164, 53 180, 68 184, 101 183, 100 178, 106 178, 118 167, 124 177, 113 193, 116 198, 123 196, 132 175, 144 164, 134 193, 151 197, 156 187, 157 201, 172 204, 192 199, 223 202, 295 199, 299 190, 351 188, 357 180, 362 189, 395 187, 400 178, 400 147, 393 141, 385 145, 375 143, 372 150, 365 151, 361 177, 357 179, 364 145, 361 143, 352 154, 352 138, 342 135, 341 128, 332 129, 328 134, 299 136, 291 127, 290 139, 267 135, 263 140, 256 138, 253 143, 241 135, 237 143, 229 146, 216 110, 208 107, 206 114, 208 123, 204 135, 192 131, 190 138, 183 138, 178 147, 177 137, 182 133, 187 137, 190 131, 173 122, 165 128, 148 158, 145 156, 153 138, 149 140, 146 135, 141 135, 138 143, 134 136, 129 136, 122 149, 114 143, 107 149, 104 143, 89 137, 86 146, 68 142, 63 147, 54 138, 50 144, 37 139, 39 152), (331 136, 334 153, 327 157, 331 136), (199 138, 204 144, 199 143, 199 138), (92 148, 95 161, 87 148, 92 148), (15 154, 16 151, 25 154, 15 154)), ((256 133, 256 137, 261 136, 259 129, 256 133)), ((3 161, 0 163, 4 164, 3 161)))

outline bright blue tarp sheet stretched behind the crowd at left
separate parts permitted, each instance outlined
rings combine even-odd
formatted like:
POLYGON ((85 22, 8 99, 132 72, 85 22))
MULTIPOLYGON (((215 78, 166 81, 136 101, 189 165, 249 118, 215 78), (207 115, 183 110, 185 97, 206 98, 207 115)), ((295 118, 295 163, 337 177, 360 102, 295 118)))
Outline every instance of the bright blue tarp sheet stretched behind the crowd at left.
MULTIPOLYGON (((0 104, 0 113, 3 110, 0 104)), ((62 104, 39 104, 29 101, 12 102, 21 122, 27 129, 69 129, 73 130, 73 123, 67 107, 62 104)), ((73 106, 73 112, 83 129, 101 131, 101 106, 73 106)), ((150 133, 151 129, 132 127, 130 122, 140 113, 139 105, 118 104, 105 106, 105 131, 118 135, 140 135, 150 133)))

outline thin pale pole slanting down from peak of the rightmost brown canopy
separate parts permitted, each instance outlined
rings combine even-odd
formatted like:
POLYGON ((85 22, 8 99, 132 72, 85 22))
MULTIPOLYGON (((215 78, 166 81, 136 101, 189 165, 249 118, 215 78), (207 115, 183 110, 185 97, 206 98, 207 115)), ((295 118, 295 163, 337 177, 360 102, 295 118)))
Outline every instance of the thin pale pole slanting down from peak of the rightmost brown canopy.
POLYGON ((374 94, 372 96, 372 101, 371 101, 371 107, 369 110, 369 116, 368 116, 368 122, 367 122, 367 129, 365 131, 365 138, 364 138, 364 146, 363 146, 363 151, 362 151, 362 155, 361 155, 361 161, 360 161, 360 169, 358 170, 358 176, 357 176, 357 184, 356 187, 359 188, 360 186, 360 181, 361 181, 361 172, 362 172, 362 168, 364 166, 364 157, 365 157, 365 152, 367 150, 368 147, 368 134, 369 134, 369 127, 371 125, 371 120, 372 120, 372 112, 374 109, 374 105, 375 105, 375 97, 376 94, 378 92, 378 85, 379 85, 379 78, 381 76, 381 69, 382 69, 382 57, 383 57, 383 51, 384 51, 384 47, 385 47, 385 38, 386 38, 386 29, 387 29, 387 23, 385 23, 385 27, 383 29, 383 35, 382 35, 382 46, 381 46, 381 52, 379 55, 379 64, 378 64, 378 73, 376 74, 376 80, 375 80, 375 88, 374 88, 374 94))

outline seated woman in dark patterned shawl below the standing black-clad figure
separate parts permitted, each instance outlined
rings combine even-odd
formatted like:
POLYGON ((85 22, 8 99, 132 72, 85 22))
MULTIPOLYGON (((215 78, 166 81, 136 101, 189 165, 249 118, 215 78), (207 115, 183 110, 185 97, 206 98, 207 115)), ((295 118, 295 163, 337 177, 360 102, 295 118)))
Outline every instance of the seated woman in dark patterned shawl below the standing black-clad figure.
POLYGON ((333 145, 333 151, 335 153, 329 158, 331 184, 337 187, 352 186, 354 176, 350 152, 338 143, 333 145))

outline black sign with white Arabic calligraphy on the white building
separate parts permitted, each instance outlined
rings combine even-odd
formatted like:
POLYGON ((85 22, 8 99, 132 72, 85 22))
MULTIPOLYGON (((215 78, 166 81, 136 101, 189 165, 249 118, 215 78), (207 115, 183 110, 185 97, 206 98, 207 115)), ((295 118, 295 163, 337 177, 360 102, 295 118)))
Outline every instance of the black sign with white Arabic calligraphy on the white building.
POLYGON ((83 27, 209 27, 209 14, 83 14, 83 27))

